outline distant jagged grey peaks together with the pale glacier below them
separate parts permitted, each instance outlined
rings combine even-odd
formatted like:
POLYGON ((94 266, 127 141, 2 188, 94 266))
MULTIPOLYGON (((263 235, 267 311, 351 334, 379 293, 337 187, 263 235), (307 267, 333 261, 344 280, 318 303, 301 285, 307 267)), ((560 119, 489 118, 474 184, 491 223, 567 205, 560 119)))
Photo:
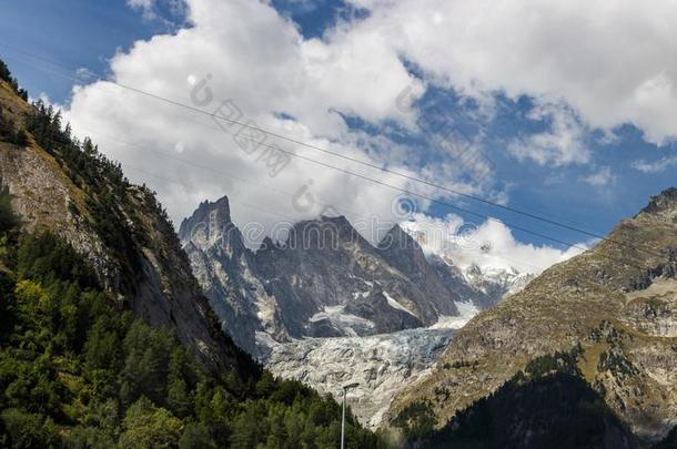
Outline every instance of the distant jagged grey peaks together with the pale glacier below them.
POLYGON ((373 246, 344 217, 297 223, 285 242, 250 251, 225 197, 200 204, 179 234, 238 345, 321 392, 360 382, 351 407, 370 427, 458 327, 518 288, 516 273, 485 276, 426 257, 400 226, 373 246))

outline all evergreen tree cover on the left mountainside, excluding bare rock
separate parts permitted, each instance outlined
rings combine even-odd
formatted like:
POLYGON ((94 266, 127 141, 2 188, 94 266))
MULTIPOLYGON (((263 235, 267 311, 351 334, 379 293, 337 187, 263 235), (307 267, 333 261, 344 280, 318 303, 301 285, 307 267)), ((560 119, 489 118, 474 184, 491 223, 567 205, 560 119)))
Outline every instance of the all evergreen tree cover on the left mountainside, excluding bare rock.
MULTIPOLYGON (((82 228, 91 226, 120 274, 111 283, 102 275, 107 266, 93 266, 91 254, 74 248, 58 226, 41 226, 46 218, 28 223, 29 212, 17 213, 21 202, 0 180, 0 447, 336 447, 341 408, 332 398, 274 379, 225 336, 214 336, 214 347, 230 357, 230 368, 210 364, 196 353, 192 329, 171 325, 181 317, 170 313, 163 325, 135 306, 141 295, 150 298, 145 305, 158 300, 139 288, 146 269, 141 255, 180 257, 166 246, 175 236, 160 205, 89 140, 72 137, 58 112, 22 105, 26 94, 19 96, 23 91, 0 68, 1 88, 16 95, 0 116, 0 151, 19 157, 44 150, 53 157, 80 195, 71 213, 82 228), (129 201, 135 192, 152 214, 129 201), (164 239, 148 232, 158 225, 169 234, 164 239), (165 247, 146 251, 159 242, 165 247)), ((381 446, 352 416, 347 442, 381 446)))

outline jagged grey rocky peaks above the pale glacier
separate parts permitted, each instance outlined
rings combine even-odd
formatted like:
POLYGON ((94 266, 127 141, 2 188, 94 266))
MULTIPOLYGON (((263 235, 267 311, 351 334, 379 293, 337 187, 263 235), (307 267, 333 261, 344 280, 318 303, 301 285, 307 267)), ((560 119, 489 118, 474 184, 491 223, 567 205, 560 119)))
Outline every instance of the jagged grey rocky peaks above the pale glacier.
POLYGON ((345 217, 297 223, 285 242, 250 251, 228 198, 202 203, 180 238, 224 329, 265 360, 271 348, 304 337, 387 334, 459 316, 499 300, 513 284, 471 277, 448 259, 426 257, 394 226, 377 245, 345 217))

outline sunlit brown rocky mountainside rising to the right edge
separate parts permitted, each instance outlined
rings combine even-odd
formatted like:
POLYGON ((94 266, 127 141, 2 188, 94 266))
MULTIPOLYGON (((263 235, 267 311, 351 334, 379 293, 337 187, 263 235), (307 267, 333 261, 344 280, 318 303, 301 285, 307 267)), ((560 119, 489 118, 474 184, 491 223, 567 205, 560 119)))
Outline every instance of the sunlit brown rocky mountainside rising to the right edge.
POLYGON ((595 248, 478 314, 430 376, 395 398, 388 419, 430 400, 442 426, 535 357, 580 345, 585 380, 640 439, 663 438, 677 424, 676 200, 675 188, 653 197, 595 248))

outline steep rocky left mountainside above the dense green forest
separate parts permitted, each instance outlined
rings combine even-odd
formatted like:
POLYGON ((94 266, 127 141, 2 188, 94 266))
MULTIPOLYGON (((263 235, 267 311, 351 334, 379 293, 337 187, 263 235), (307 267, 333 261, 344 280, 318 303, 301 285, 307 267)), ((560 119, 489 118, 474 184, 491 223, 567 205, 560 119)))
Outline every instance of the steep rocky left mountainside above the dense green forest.
POLYGON ((63 237, 88 258, 112 297, 129 302, 152 326, 175 327, 181 340, 209 365, 234 367, 240 355, 213 326, 209 305, 153 194, 129 184, 91 143, 89 157, 77 156, 64 136, 48 135, 48 124, 40 122, 46 115, 34 114, 4 82, 0 103, 4 121, 36 133, 26 146, 0 143, 0 178, 23 228, 63 237))

